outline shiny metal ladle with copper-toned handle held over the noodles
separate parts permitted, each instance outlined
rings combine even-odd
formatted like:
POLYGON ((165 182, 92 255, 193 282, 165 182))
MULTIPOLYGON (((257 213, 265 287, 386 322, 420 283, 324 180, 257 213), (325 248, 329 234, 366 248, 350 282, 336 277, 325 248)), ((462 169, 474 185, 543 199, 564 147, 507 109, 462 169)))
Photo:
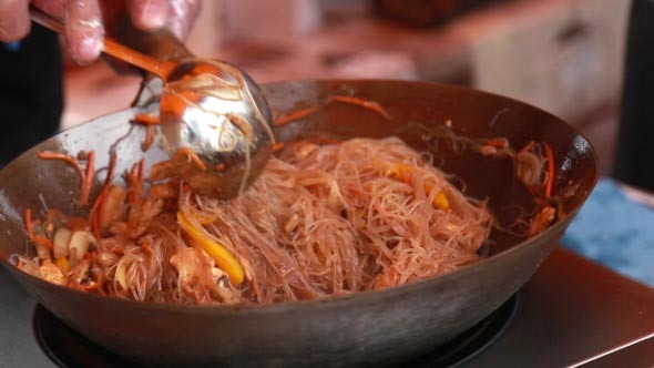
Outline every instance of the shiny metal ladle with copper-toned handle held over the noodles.
MULTIPOLYGON (((30 17, 63 33, 59 20, 34 7, 30 17)), ((262 90, 244 71, 217 60, 157 60, 106 37, 103 52, 162 79, 166 151, 196 192, 226 200, 263 170, 275 140, 273 120, 262 90)))

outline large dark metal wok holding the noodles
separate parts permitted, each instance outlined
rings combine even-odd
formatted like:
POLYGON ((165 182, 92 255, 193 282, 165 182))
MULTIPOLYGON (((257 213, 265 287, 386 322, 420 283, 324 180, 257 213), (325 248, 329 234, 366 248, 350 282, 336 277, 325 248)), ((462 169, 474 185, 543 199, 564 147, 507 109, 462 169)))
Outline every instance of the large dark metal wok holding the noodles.
MULTIPOLYGON (((568 193, 565 215, 527 241, 493 232, 486 257, 444 275, 408 285, 320 300, 270 306, 193 307, 137 303, 59 287, 21 273, 8 263, 28 245, 22 214, 30 207, 79 213, 79 178, 68 165, 37 159, 43 150, 76 154, 94 150, 105 167, 117 150, 117 172, 142 156, 166 159, 161 144, 141 151, 144 129, 127 121, 137 109, 120 111, 64 131, 32 147, 0 172, 1 263, 45 308, 111 351, 154 366, 382 366, 399 365, 435 349, 488 316, 514 294, 555 246, 597 178, 590 143, 560 119, 524 103, 462 88, 399 81, 305 81, 265 85, 274 114, 324 105, 318 113, 282 126, 282 141, 326 134, 336 137, 399 135, 466 184, 466 193, 489 198, 500 221, 517 206, 529 211, 529 191, 513 180, 508 160, 471 151, 454 152, 429 131, 448 120, 457 134, 508 137, 511 145, 548 142, 555 156, 554 193, 568 193), (386 120, 360 106, 324 103, 349 94, 380 103, 386 120), (417 126, 427 126, 425 130, 417 126), (512 208, 512 209, 511 209, 512 208)), ((105 171, 98 173, 95 193, 105 171)), ((265 201, 265 198, 262 198, 265 201)), ((513 215, 511 215, 513 213, 513 215)))

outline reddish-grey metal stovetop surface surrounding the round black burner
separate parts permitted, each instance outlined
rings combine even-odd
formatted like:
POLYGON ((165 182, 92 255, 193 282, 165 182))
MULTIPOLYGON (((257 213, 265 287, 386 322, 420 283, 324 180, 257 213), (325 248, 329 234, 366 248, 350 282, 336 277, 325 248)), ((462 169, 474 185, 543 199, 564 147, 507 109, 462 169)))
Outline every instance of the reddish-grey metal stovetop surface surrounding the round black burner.
MULTIPOLYGON (((501 334, 456 367, 654 366, 652 288, 556 248, 517 299, 501 334)), ((34 338, 34 305, 0 270, 0 367, 57 367, 34 338)))

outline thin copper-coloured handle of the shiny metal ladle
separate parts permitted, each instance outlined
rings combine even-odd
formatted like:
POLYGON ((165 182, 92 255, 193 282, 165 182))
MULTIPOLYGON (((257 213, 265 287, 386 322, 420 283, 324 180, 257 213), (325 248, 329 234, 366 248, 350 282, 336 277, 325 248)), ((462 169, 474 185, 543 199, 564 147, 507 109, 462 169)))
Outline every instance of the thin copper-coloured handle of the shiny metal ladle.
MULTIPOLYGON (((63 24, 60 20, 50 17, 49 14, 44 13, 43 11, 33 6, 30 6, 30 18, 34 22, 45 28, 49 28, 58 33, 64 33, 63 24)), ((175 62, 162 61, 150 58, 149 55, 145 55, 136 50, 130 49, 108 37, 104 38, 102 51, 116 59, 123 60, 134 67, 146 70, 157 75, 162 80, 166 80, 171 72, 177 67, 175 62)))

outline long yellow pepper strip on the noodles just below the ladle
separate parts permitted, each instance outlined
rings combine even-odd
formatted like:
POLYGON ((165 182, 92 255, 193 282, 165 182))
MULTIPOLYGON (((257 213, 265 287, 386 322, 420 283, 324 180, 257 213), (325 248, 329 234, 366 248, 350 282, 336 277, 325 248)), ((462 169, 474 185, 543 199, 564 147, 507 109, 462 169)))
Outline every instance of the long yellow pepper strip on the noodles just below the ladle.
POLYGON ((182 212, 177 212, 177 222, 182 229, 188 236, 197 242, 200 246, 206 252, 210 257, 212 257, 216 262, 216 266, 224 270, 228 276, 229 280, 234 285, 239 285, 243 283, 243 278, 245 277, 245 272, 243 267, 238 263, 238 260, 221 244, 207 238, 202 234, 202 231, 197 227, 193 226, 191 222, 184 216, 182 212))

